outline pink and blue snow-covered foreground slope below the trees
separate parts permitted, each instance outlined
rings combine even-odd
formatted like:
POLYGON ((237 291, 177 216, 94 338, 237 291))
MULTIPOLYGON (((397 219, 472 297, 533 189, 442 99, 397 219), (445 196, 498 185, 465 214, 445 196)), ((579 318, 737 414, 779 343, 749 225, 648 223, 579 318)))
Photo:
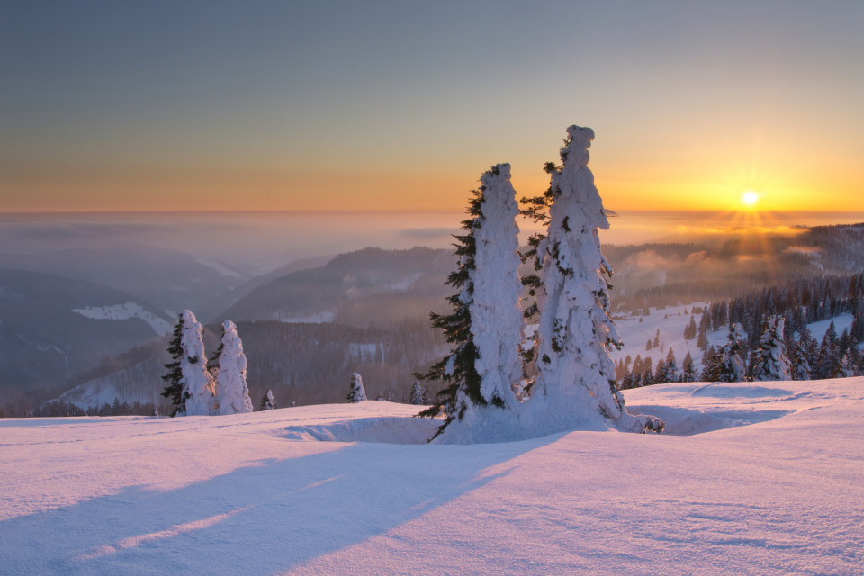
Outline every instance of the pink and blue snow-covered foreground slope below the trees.
POLYGON ((378 401, 0 420, 0 572, 862 572, 864 378, 626 398, 672 434, 426 445, 378 401))

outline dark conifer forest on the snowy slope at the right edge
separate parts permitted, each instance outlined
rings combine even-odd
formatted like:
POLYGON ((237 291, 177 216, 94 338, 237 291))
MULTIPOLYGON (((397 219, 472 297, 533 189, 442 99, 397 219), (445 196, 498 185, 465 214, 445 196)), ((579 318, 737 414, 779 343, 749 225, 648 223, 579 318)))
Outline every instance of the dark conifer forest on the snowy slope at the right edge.
MULTIPOLYGON (((694 338, 695 318, 684 338, 694 338)), ((680 368, 673 350, 656 366, 653 360, 630 356, 616 366, 622 389, 653 383, 745 380, 818 380, 864 374, 864 275, 797 280, 784 286, 747 293, 731 302, 710 304, 695 330, 703 351, 697 373, 687 354, 680 368), (833 321, 816 340, 808 324, 851 314, 849 329, 838 334, 833 321), (707 343, 707 332, 728 329, 721 347, 707 343), (746 335, 744 334, 746 332, 746 335), (788 371, 773 362, 788 362, 788 371), (632 364, 631 364, 632 363, 632 364)), ((659 344, 649 340, 646 349, 659 344)))

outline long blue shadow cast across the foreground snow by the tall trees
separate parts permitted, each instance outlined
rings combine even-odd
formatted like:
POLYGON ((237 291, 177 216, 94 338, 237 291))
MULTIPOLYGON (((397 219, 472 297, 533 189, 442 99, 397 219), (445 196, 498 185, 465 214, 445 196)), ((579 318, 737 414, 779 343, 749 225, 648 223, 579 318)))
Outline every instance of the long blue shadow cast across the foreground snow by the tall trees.
POLYGON ((484 446, 357 443, 174 491, 132 487, 0 522, 0 566, 10 574, 280 572, 480 488, 507 474, 484 469, 560 436, 484 446))

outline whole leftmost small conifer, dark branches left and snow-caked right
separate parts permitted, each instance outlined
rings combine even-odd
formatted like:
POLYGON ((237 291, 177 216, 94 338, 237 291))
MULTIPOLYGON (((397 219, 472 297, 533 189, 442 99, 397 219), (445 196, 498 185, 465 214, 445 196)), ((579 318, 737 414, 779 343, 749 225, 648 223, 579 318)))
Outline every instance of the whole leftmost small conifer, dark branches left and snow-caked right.
POLYGON ((174 403, 174 416, 215 414, 214 384, 204 356, 202 327, 192 311, 180 315, 168 352, 173 362, 166 364, 171 372, 163 376, 168 382, 162 395, 174 403))

